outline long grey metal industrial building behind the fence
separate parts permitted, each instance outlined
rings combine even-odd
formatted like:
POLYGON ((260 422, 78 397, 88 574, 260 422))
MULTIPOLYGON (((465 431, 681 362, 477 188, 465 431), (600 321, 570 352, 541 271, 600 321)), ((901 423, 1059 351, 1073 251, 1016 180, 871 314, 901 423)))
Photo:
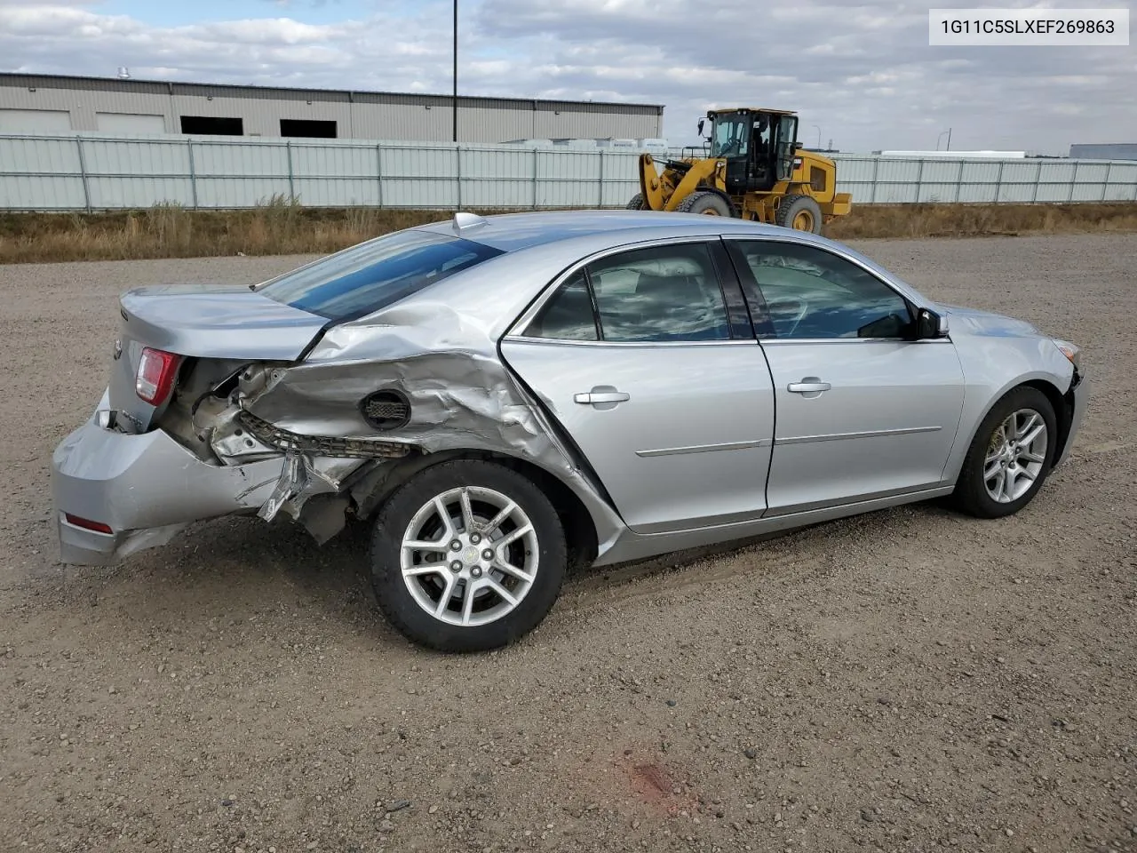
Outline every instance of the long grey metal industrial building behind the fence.
MULTIPOLYGON (((0 133, 222 134, 454 140, 442 94, 276 89, 41 74, 0 74, 0 133)), ((521 98, 457 99, 458 142, 657 138, 663 107, 521 98)))

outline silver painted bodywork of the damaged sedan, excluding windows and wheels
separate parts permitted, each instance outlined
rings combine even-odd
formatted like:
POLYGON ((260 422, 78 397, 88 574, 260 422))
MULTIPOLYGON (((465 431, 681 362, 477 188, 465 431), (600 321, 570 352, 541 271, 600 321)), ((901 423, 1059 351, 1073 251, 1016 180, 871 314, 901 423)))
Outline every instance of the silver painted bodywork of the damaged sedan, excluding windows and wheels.
MULTIPOLYGON (((322 334, 323 318, 247 289, 125 295, 123 357, 113 363, 100 408, 123 413, 140 434, 92 420, 60 445, 52 478, 59 512, 123 532, 103 537, 60 520, 64 558, 114 562, 190 521, 234 512, 285 512, 323 540, 345 510, 373 511, 372 496, 400 470, 398 462, 250 447, 235 432, 242 409, 302 436, 406 442, 426 461, 481 452, 536 465, 584 506, 603 565, 949 494, 978 424, 1001 396, 1023 382, 1061 395, 1073 379, 1069 359, 1029 324, 937 306, 872 260, 811 234, 630 212, 471 224, 465 235, 506 254, 322 334), (951 336, 641 345, 521 334, 556 285, 591 258, 720 235, 836 252, 914 305, 945 314, 951 336), (230 397, 209 398, 193 431, 179 429, 175 440, 153 424, 177 409, 153 411, 134 394, 143 346, 196 356, 199 365, 248 359, 249 367, 230 397), (806 380, 829 388, 788 390, 806 380), (410 422, 395 432, 376 431, 358 409, 384 388, 410 401, 410 422), (574 401, 592 392, 621 397, 574 401), (199 429, 208 449, 180 444, 199 429)), ((426 227, 453 233, 454 224, 426 227)), ((1088 389, 1082 376, 1059 462, 1088 389)))

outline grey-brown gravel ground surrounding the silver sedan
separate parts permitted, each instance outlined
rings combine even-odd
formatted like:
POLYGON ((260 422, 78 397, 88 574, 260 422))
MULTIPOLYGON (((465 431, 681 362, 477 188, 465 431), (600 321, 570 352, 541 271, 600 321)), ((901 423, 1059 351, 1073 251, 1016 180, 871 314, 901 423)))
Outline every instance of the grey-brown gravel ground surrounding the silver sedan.
POLYGON ((299 258, 0 267, 0 847, 1137 851, 1137 235, 860 248, 1084 345, 1096 395, 1031 506, 587 573, 473 657, 385 627, 362 530, 56 563, 48 464, 114 296, 299 258))

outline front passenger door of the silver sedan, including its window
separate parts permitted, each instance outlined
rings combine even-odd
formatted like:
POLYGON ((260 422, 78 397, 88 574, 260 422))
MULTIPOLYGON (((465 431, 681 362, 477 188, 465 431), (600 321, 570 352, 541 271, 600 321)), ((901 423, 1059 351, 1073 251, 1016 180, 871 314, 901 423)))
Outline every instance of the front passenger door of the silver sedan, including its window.
POLYGON ((767 515, 939 486, 963 407, 951 340, 911 340, 907 301, 850 260, 802 243, 735 245, 772 328, 767 515))

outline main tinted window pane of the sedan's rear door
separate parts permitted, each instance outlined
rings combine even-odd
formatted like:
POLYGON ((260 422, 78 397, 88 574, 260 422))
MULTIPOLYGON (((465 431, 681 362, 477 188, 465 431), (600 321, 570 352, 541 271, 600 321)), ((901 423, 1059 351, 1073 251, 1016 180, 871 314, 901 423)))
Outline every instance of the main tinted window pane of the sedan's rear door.
POLYGON ((589 265, 588 274, 606 341, 730 339, 706 246, 637 249, 589 265))

